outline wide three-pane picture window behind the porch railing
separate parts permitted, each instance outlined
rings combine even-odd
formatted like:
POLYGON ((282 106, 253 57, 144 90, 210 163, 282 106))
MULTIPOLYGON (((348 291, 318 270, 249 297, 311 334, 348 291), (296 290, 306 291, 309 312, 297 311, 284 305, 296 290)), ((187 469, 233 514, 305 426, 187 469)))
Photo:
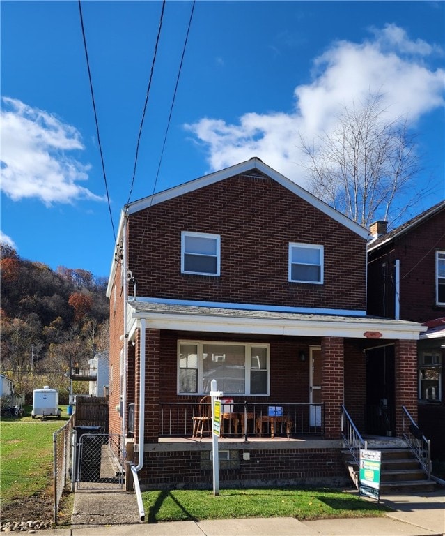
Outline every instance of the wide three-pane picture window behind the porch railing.
POLYGON ((224 394, 269 394, 269 345, 180 341, 178 392, 207 394, 210 383, 224 394))

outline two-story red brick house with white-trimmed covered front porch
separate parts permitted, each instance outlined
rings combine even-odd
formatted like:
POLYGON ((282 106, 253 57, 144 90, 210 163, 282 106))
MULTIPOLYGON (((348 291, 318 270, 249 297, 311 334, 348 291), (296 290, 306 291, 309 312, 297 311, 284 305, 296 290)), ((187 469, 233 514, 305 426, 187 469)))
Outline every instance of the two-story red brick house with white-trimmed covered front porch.
POLYGON ((367 240, 258 158, 124 207, 109 422, 144 486, 212 482, 211 442, 192 437, 212 379, 231 399, 225 483, 343 480, 341 405, 363 430, 368 348, 392 346, 393 400, 416 419, 424 328, 366 315, 367 240))

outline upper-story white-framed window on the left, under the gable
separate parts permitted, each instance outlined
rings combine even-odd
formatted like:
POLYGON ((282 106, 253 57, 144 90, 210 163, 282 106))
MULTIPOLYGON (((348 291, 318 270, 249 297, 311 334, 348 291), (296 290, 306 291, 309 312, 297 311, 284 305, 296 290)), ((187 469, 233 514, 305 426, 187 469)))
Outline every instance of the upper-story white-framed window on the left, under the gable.
POLYGON ((181 272, 219 276, 221 237, 204 232, 181 233, 181 272))

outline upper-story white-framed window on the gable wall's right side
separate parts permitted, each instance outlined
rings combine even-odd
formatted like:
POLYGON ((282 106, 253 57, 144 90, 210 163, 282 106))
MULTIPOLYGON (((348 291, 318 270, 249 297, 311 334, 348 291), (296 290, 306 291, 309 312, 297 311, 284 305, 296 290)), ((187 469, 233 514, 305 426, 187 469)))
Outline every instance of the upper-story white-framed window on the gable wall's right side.
POLYGON ((289 281, 323 283, 323 246, 289 244, 289 281))

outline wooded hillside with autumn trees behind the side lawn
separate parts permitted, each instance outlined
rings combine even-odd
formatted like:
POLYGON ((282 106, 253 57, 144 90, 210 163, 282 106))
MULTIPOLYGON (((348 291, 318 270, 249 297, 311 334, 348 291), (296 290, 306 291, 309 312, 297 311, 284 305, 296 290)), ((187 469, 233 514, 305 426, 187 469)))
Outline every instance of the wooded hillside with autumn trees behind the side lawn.
MULTIPOLYGON (((1 244, 1 365, 17 393, 32 401, 33 389, 58 389, 68 401, 70 364, 88 366, 108 351, 106 278, 84 269, 24 260, 1 244)), ((73 392, 88 391, 78 382, 73 392)))

